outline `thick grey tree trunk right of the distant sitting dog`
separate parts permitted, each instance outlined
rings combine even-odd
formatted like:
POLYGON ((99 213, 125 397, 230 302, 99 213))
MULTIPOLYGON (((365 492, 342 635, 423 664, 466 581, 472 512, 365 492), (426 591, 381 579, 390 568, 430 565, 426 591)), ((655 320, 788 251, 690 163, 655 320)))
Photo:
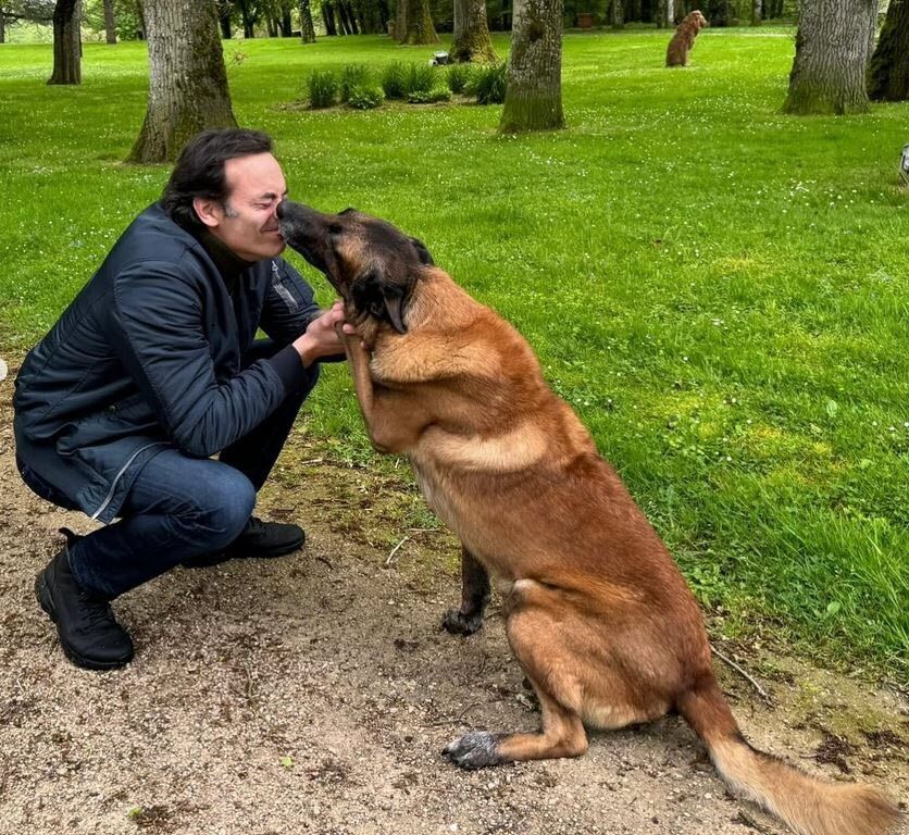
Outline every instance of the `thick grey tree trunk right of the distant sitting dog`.
POLYGON ((785 113, 866 113, 869 40, 877 0, 805 0, 785 113))

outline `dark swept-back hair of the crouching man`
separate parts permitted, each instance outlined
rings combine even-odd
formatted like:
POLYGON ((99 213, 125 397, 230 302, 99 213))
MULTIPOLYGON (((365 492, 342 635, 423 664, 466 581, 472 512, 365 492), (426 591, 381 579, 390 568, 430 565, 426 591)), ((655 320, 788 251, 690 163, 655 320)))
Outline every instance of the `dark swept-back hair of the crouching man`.
POLYGON ((242 127, 211 128, 190 139, 179 153, 161 195, 161 208, 188 232, 203 227, 192 200, 203 197, 226 203, 224 163, 237 157, 271 153, 272 138, 261 130, 242 127))

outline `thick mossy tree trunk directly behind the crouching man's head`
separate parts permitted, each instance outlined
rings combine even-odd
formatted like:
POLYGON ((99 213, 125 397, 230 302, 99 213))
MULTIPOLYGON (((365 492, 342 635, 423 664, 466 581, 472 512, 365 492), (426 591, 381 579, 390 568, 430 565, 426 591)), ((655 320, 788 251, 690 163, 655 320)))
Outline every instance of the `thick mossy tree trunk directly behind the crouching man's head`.
POLYGON ((145 0, 151 78, 128 162, 174 160, 207 127, 236 127, 214 3, 145 0))

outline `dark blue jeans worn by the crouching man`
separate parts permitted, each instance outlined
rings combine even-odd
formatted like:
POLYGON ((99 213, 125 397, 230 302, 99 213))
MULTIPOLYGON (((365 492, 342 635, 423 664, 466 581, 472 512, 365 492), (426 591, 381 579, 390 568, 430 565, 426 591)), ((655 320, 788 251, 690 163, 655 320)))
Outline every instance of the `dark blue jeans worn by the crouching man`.
MULTIPOLYGON (((253 348, 247 362, 275 350, 266 340, 253 348)), ((303 390, 288 395, 217 461, 176 449, 154 456, 136 476, 121 519, 71 546, 70 564, 79 585, 113 599, 187 558, 222 550, 236 539, 317 376, 313 369, 303 390)))

